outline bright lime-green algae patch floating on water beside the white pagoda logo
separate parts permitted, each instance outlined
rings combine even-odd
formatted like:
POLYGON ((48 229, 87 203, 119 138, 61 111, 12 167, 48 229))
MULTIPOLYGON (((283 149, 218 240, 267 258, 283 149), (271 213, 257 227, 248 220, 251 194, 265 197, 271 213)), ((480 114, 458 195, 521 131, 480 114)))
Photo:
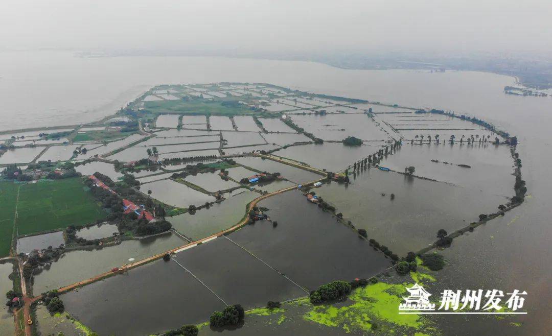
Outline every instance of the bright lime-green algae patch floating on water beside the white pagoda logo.
POLYGON ((376 328, 401 328, 405 331, 427 328, 429 322, 423 316, 399 314, 399 305, 403 301, 401 296, 406 295, 405 286, 411 285, 378 282, 358 287, 343 306, 313 306, 303 318, 325 326, 341 327, 346 332, 376 328))

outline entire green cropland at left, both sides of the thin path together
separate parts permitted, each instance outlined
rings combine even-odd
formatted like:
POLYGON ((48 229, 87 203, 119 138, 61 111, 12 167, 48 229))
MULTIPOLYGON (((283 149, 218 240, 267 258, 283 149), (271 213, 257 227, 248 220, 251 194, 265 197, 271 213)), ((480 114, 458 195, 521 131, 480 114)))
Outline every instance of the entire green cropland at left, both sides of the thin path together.
POLYGON ((27 184, 0 182, 0 257, 9 254, 16 206, 19 236, 104 218, 105 211, 83 188, 78 177, 27 184))

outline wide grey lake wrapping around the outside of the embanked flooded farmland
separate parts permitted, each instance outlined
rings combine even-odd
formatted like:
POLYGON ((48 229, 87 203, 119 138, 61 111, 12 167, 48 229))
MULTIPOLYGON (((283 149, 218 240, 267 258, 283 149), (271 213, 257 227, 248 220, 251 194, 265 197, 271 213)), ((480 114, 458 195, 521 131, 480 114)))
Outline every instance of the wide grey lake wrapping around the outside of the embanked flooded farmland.
MULTIPOLYGON (((481 72, 343 70, 312 62, 217 57, 78 58, 70 52, 0 52, 1 130, 94 121, 155 84, 266 82, 310 92, 476 115, 517 135, 526 202, 455 240, 447 251, 450 289, 528 292, 522 328, 494 319, 460 325, 481 333, 545 334, 552 310, 550 143, 552 99, 503 93, 512 77, 481 72), (6 122, 9 120, 9 122, 6 122), (479 237, 480 239, 470 239, 479 237), (491 237, 491 238, 490 238, 491 237), (474 248, 477 246, 477 249, 474 248), (477 253, 476 253, 477 252, 477 253), (482 274, 481 270, 485 270, 482 274), (485 281, 482 281, 484 279, 485 281)), ((444 318, 445 333, 459 324, 444 318)))

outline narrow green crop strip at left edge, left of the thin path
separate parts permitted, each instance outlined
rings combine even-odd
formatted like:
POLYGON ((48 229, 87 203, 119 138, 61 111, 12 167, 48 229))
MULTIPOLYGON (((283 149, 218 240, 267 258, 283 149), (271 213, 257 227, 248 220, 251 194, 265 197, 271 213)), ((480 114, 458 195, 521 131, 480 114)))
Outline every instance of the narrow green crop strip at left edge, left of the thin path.
POLYGON ((9 254, 19 184, 0 182, 0 257, 9 254))

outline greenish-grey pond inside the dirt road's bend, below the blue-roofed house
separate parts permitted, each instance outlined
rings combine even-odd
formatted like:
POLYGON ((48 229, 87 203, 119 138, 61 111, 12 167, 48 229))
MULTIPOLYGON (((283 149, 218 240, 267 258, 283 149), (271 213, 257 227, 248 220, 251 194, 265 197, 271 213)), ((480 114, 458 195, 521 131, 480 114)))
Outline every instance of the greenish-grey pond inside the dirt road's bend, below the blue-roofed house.
MULTIPOLYGON (((235 168, 232 168, 235 169, 235 168)), ((191 215, 189 213, 167 217, 173 228, 194 240, 209 237, 236 225, 246 214, 246 205, 259 197, 254 191, 237 189, 224 194, 224 201, 215 203, 209 209, 201 209, 191 215)))

